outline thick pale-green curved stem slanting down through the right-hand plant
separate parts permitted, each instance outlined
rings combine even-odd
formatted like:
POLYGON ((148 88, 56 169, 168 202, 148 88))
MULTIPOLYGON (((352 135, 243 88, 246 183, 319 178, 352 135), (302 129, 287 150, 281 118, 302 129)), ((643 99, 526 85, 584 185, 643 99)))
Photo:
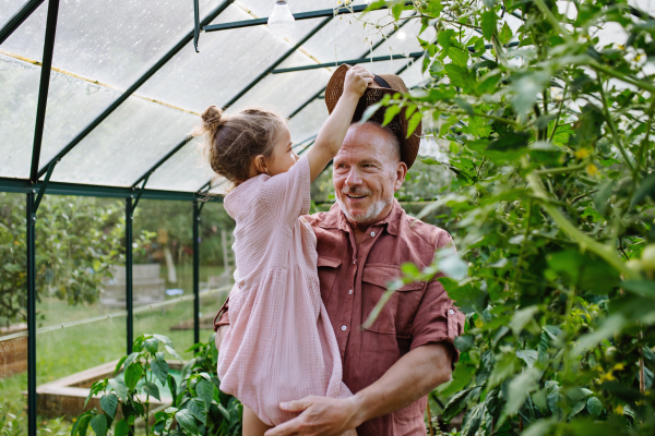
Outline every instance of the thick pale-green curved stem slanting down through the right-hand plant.
MULTIPOLYGON (((523 158, 524 166, 527 166, 527 159, 523 158)), ((621 258, 615 253, 615 251, 607 245, 604 245, 594 239, 587 237, 583 232, 580 231, 569 219, 561 213, 560 209, 550 204, 550 198, 548 194, 546 194, 544 190, 544 184, 538 174, 534 171, 526 175, 526 179, 532 187, 535 196, 543 199, 541 207, 546 213, 552 218, 552 220, 559 226, 559 228, 567 233, 571 239, 573 239, 580 245, 582 251, 591 251, 595 253, 609 265, 611 265, 615 269, 622 272, 627 278, 638 280, 640 278, 639 272, 633 271, 632 269, 626 267, 626 264, 621 261, 621 258)))

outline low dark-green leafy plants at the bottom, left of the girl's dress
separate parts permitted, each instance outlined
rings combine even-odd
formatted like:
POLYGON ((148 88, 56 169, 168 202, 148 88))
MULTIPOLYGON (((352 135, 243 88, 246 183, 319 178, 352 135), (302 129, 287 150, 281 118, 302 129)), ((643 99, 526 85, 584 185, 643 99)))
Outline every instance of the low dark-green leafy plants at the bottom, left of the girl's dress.
POLYGON ((194 358, 183 365, 179 385, 165 359, 168 353, 181 362, 170 339, 162 335, 136 338, 134 352, 118 362, 115 377, 96 382, 91 388, 86 401, 100 396, 102 410, 81 414, 71 436, 85 435, 90 427, 97 436, 105 436, 111 428, 116 436, 133 435, 138 420, 145 423, 147 436, 240 434, 243 409, 236 398, 218 389, 218 351, 214 338, 212 334, 209 343, 196 343, 188 350, 194 352, 194 358), (159 386, 170 390, 171 404, 153 414, 150 398, 167 400, 162 398, 159 386))

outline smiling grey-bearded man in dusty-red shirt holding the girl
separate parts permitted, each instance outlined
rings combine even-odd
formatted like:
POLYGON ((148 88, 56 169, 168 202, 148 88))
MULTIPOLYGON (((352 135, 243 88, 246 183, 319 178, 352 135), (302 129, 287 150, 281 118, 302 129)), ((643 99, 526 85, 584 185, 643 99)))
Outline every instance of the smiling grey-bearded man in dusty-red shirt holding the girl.
MULTIPOLYGON (((376 322, 361 328, 389 282, 402 275, 402 264, 426 267, 452 243, 444 230, 410 218, 394 199, 416 157, 407 155, 405 137, 377 123, 353 124, 334 158, 336 204, 305 217, 317 234, 321 298, 354 396, 283 403, 301 413, 266 436, 337 436, 350 428, 359 436, 426 434, 427 393, 450 380, 464 316, 432 280, 400 289, 376 322)), ((223 336, 227 302, 219 315, 223 336)))

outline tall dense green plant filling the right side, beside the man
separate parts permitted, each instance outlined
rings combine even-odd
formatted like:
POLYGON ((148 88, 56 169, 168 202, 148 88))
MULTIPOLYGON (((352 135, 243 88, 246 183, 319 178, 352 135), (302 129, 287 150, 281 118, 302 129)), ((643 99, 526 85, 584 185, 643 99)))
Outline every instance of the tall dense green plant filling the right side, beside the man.
POLYGON ((466 314, 443 419, 655 434, 655 20, 621 0, 382 4, 421 22, 430 80, 365 117, 422 119, 446 147, 424 162, 454 178, 419 217, 457 253, 405 265, 379 306, 437 277, 466 314))

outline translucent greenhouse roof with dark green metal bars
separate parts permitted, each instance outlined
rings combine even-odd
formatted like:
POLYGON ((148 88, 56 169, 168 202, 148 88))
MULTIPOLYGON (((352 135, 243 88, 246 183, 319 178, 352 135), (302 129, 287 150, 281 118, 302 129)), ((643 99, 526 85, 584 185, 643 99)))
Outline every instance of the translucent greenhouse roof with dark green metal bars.
MULTIPOLYGON (((289 0, 294 13, 332 12, 336 3, 289 0)), ((653 9, 650 0, 634 3, 653 9)), ((123 196, 144 182, 151 198, 222 193, 225 184, 210 186, 214 174, 201 164, 202 140, 190 136, 207 106, 273 107, 289 118, 300 152, 327 117, 321 97, 337 63, 366 58, 374 73, 400 74, 409 88, 426 80, 415 62, 424 55, 419 20, 394 29, 383 26, 393 22, 388 10, 368 13, 369 25, 361 13, 310 14, 279 38, 265 20, 252 22, 273 5, 200 0, 200 25, 215 32, 200 35, 195 52, 188 1, 1 1, 0 190, 32 190, 50 169, 52 193, 123 196)), ((505 20, 514 29, 521 23, 505 20)), ((433 28, 421 34, 433 37, 433 28)))

